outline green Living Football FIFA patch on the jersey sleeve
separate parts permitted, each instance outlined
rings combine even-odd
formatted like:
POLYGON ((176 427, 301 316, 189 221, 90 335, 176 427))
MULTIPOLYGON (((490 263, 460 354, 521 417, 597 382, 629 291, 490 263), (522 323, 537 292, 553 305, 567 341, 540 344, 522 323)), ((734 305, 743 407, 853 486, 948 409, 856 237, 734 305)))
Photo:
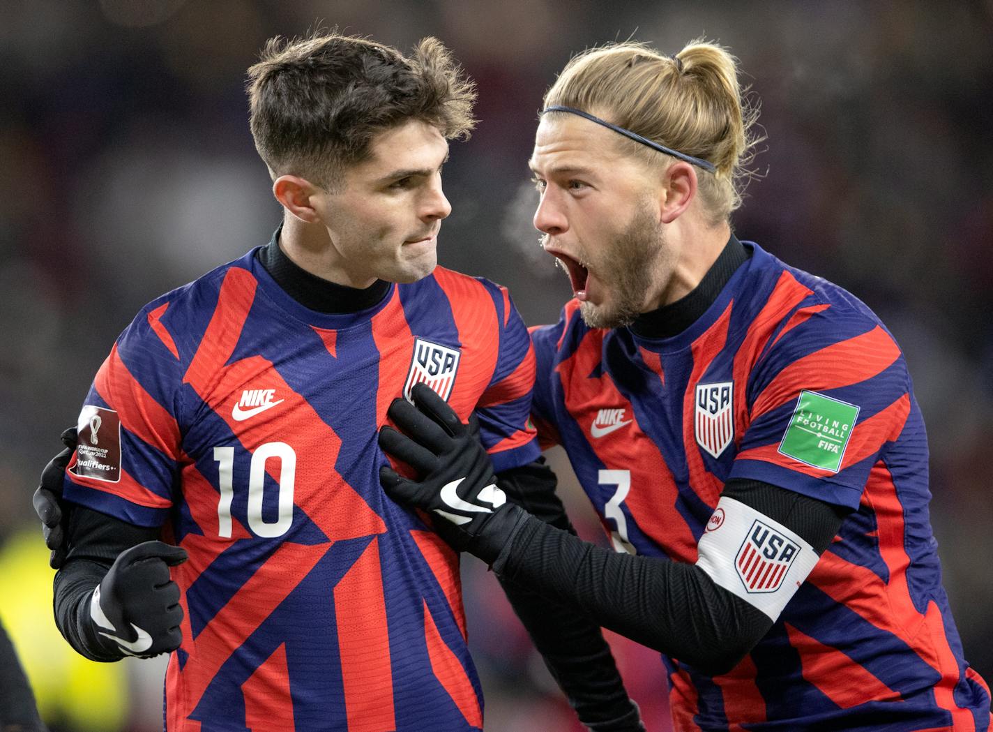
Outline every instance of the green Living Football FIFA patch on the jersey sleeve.
POLYGON ((816 391, 800 391, 780 442, 780 453, 814 468, 837 473, 859 407, 816 391))

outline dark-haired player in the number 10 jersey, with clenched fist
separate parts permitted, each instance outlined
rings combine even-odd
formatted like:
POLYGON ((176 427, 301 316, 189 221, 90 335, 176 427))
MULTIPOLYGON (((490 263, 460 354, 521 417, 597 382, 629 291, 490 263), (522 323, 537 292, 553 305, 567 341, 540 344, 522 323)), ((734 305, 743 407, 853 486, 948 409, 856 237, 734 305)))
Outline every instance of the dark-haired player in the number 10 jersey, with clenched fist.
MULTIPOLYGON (((170 732, 480 730, 458 555, 386 498, 376 446, 420 384, 473 415, 495 505, 537 470, 520 317, 435 267, 472 83, 434 39, 328 34, 271 41, 248 92, 283 223, 147 305, 98 370, 36 494, 57 623, 90 659, 175 652, 170 732)), ((507 593, 581 721, 643 729, 599 627, 507 593)))

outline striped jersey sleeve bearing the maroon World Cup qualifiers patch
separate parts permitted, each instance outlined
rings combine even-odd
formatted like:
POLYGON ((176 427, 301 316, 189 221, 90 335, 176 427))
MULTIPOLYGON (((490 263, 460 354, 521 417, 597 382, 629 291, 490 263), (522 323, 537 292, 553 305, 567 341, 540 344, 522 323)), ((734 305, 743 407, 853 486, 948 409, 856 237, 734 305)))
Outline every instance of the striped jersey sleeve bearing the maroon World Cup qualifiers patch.
POLYGON ((183 369, 167 308, 142 310, 96 372, 64 482, 69 501, 141 526, 165 522, 178 485, 183 369))

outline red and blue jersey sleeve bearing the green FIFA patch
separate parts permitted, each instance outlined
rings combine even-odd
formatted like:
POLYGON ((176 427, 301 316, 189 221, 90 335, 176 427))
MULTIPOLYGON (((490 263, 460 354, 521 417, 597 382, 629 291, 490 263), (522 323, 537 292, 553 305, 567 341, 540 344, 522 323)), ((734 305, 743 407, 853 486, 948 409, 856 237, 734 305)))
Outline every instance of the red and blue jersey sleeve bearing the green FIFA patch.
POLYGON ((850 509, 888 446, 905 428, 922 429, 908 421, 913 394, 900 348, 868 309, 849 304, 784 323, 746 388, 749 422, 729 480, 850 509))

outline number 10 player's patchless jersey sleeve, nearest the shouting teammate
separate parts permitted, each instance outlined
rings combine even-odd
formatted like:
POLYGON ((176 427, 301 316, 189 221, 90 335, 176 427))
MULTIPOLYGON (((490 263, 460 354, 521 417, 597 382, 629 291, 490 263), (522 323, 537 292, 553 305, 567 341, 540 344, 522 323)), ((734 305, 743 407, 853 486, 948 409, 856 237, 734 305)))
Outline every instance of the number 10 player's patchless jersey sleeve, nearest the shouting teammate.
POLYGON ((487 283, 497 307, 497 366, 476 405, 480 437, 498 472, 526 465, 540 454, 529 414, 534 350, 505 287, 487 283))

